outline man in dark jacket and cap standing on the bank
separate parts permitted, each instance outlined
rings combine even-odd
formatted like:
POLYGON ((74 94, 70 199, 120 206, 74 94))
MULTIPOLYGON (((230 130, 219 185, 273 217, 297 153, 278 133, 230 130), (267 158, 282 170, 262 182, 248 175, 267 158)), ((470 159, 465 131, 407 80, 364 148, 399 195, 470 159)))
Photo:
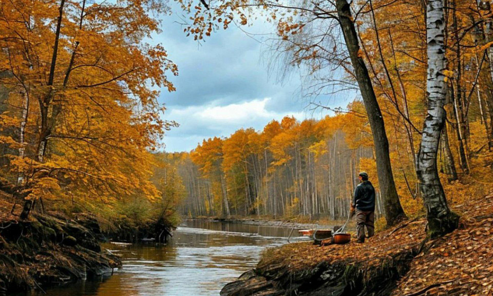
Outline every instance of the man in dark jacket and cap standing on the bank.
POLYGON ((368 174, 359 173, 359 183, 354 190, 354 200, 351 203, 351 212, 356 211, 356 232, 358 243, 365 242, 365 225, 368 230, 368 237, 375 234, 375 189, 370 181, 368 174))

